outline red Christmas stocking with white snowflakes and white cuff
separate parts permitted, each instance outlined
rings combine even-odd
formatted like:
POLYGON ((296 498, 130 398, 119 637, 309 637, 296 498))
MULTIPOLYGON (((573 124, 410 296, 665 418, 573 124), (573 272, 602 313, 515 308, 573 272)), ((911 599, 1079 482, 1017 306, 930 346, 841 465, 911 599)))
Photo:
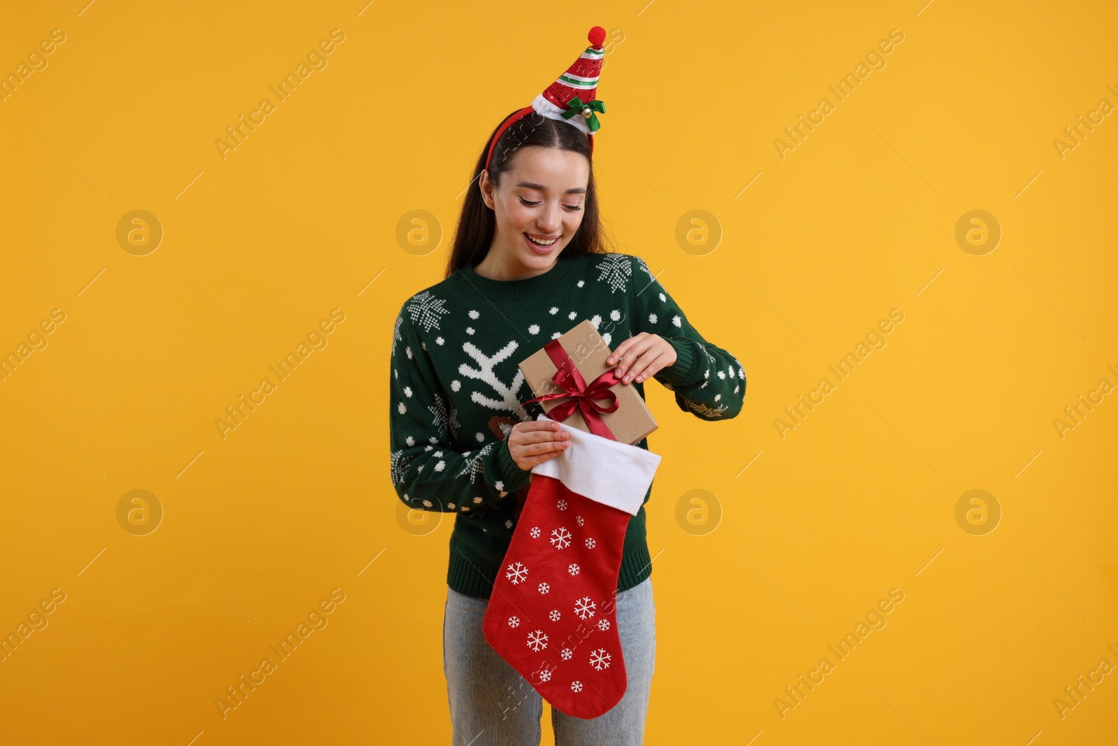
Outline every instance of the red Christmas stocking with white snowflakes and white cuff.
POLYGON ((483 631, 552 707, 595 718, 625 693, 617 574, 625 529, 641 509, 660 456, 559 427, 569 433, 570 445, 532 468, 483 631))

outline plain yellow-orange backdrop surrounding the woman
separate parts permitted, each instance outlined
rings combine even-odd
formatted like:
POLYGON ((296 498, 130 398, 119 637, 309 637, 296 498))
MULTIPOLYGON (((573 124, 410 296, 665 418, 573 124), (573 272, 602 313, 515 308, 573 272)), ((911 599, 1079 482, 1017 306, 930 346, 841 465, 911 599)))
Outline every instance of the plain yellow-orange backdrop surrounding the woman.
POLYGON ((0 662, 0 740, 448 740, 451 525, 400 516, 387 478, 392 322, 442 277, 485 138, 594 25, 608 227, 749 381, 721 424, 647 389, 647 743, 1112 738, 1112 671, 1053 705, 1118 664, 1112 3, 77 0, 0 25, 0 73, 65 35, 0 101, 0 353, 28 344, 0 381, 0 632, 65 595, 0 662), (222 157, 332 29, 325 66, 222 157), (132 210, 150 217, 121 238, 132 210), (1097 404, 1061 434, 1080 395, 1097 404), (892 588, 888 624, 781 717, 892 588), (324 599, 326 626, 222 719, 324 599))

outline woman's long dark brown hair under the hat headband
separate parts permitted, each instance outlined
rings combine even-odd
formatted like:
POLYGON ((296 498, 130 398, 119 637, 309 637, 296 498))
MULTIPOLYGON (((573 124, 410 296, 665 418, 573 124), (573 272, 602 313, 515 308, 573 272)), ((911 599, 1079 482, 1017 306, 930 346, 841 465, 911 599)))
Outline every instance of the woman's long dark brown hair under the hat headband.
MULTIPOLYGON (((482 199, 482 190, 477 186, 477 181, 481 179, 482 171, 485 170, 485 157, 489 154, 490 143, 493 142, 496 131, 501 129, 501 124, 509 116, 505 116, 493 128, 493 132, 490 133, 485 147, 482 148, 482 152, 477 157, 473 179, 466 189, 466 198, 462 202, 462 213, 454 232, 454 245, 451 247, 451 256, 446 263, 446 277, 464 266, 479 264, 489 254, 490 244, 493 243, 496 216, 482 199)), ((519 120, 504 131, 496 148, 493 149, 493 159, 490 161, 489 168, 490 181, 493 182, 493 186, 498 186, 502 176, 512 168, 512 159, 517 150, 531 145, 570 150, 586 157, 590 164, 590 178, 587 181, 586 199, 582 202, 585 210, 582 223, 578 226, 570 243, 562 249, 562 255, 605 254, 606 232, 598 211, 598 190, 594 183, 594 159, 590 158, 589 138, 578 128, 539 113, 532 113, 519 120)))

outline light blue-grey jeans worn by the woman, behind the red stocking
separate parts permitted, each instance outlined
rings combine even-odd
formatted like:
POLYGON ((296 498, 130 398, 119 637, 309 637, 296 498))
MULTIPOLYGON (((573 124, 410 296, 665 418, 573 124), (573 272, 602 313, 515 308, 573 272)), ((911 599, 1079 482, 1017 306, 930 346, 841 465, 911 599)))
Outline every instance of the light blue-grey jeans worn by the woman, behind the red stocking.
MULTIPOLYGON (((642 746, 656 658, 652 578, 617 594, 617 634, 625 657, 625 696, 585 720, 551 710, 556 746, 642 746)), ((443 673, 453 746, 539 746, 543 698, 486 642, 489 601, 447 587, 443 673)))

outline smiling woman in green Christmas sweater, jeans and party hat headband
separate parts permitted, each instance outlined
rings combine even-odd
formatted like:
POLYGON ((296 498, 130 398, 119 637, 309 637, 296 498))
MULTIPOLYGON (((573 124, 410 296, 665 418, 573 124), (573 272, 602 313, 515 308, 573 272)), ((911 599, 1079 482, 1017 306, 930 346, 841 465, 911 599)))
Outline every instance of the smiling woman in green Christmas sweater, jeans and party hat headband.
MULTIPOLYGON (((540 695, 482 632, 531 469, 568 445, 556 422, 537 419, 538 403, 522 404, 533 393, 518 363, 589 319, 622 385, 642 397, 655 378, 681 409, 714 421, 736 416, 746 394, 738 359, 688 323, 644 259, 605 252, 588 136, 597 124, 568 121, 605 111, 594 87, 604 37, 591 29, 591 46, 542 94, 548 101, 537 97, 490 135, 446 277, 404 303, 392 334, 392 484, 409 507, 456 514, 443 671, 462 746, 540 743, 540 695)), ((634 445, 647 450, 647 438, 634 445)), ((625 532, 614 599, 625 695, 590 719, 552 708, 557 746, 643 743, 655 658, 651 575, 642 507, 625 532)))

